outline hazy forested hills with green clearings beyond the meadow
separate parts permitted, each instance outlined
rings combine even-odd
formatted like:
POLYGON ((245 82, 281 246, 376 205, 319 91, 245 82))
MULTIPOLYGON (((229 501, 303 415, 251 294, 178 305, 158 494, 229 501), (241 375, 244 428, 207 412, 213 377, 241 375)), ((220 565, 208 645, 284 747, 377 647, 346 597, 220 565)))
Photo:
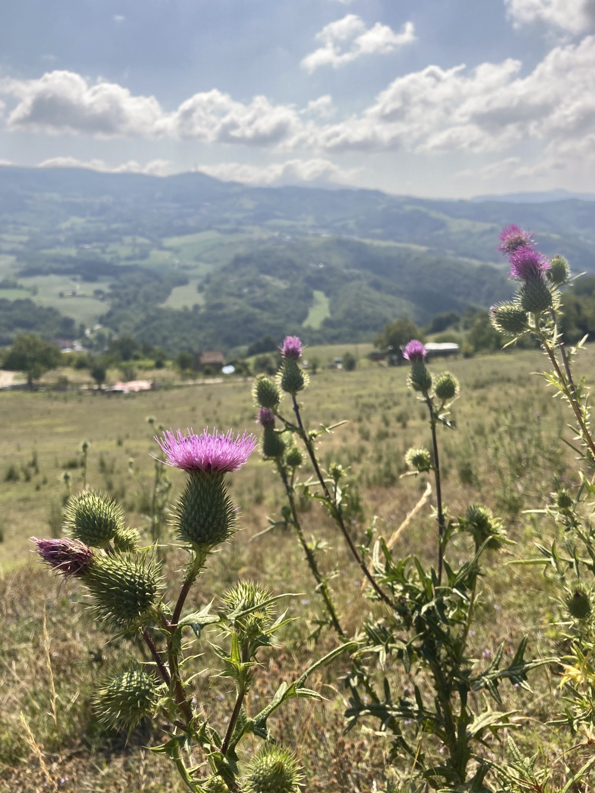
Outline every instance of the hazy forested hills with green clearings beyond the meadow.
MULTIPOLYGON (((435 201, 0 167, 0 299, 170 350, 287 330, 370 338, 395 316, 424 322, 505 297, 495 249, 510 222, 574 270, 595 270, 595 203, 578 199, 435 201)), ((10 333, 2 327, 0 343, 10 333)))

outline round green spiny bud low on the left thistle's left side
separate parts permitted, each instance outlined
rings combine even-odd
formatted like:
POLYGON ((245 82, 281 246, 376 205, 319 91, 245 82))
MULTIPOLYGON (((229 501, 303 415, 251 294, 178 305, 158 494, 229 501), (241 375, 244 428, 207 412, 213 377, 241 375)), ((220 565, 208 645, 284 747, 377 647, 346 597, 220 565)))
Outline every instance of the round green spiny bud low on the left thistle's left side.
POLYGON ((93 697, 99 721, 117 730, 133 730, 155 712, 158 702, 155 678, 136 667, 105 680, 93 697))

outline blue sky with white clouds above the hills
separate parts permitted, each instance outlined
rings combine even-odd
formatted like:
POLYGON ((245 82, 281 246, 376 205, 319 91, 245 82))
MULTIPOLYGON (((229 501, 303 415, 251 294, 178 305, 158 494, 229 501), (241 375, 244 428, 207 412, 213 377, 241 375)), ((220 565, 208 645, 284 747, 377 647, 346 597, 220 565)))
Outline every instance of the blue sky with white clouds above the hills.
POLYGON ((5 0, 0 163, 592 192, 595 0, 5 0))

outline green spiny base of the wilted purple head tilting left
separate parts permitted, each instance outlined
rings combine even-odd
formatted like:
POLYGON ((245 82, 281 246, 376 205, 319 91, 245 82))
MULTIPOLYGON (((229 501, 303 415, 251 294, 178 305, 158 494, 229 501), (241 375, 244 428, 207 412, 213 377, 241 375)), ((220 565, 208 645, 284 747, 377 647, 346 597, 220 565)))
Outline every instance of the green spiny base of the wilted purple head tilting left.
POLYGON ((161 578, 152 561, 97 554, 82 578, 98 617, 117 627, 142 623, 159 599, 161 578))

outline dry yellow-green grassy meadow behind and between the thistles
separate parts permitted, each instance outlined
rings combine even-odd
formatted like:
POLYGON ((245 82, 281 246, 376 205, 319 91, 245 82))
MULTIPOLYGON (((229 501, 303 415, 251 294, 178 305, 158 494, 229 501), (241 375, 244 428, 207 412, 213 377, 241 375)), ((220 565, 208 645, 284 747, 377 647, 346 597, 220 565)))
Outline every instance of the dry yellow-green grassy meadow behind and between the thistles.
MULTIPOLYGON (((359 345, 360 356, 362 348, 359 345)), ((353 351, 353 345, 313 347, 306 357, 316 352, 323 362, 347 349, 353 351)), ((594 363, 595 351, 589 349, 581 359, 582 370, 593 371, 594 363)), ((552 400, 543 381, 530 374, 543 364, 541 354, 534 351, 448 362, 461 381, 461 397, 454 408, 457 429, 440 432, 444 500, 452 515, 476 501, 501 515, 509 537, 516 542, 506 551, 509 561, 531 554, 533 542, 551 534, 549 523, 538 524, 524 510, 547 502, 554 477, 568 474, 573 454, 561 442, 562 436, 570 439, 562 404, 552 400)), ((443 368, 443 362, 432 363, 432 370, 443 368)), ((374 515, 378 515, 379 531, 386 537, 393 534, 427 483, 424 476, 400 478, 405 450, 412 444, 428 443, 424 408, 407 389, 406 376, 405 367, 377 365, 359 366, 350 373, 321 370, 303 395, 309 427, 348 421, 324 437, 320 451, 325 465, 339 461, 351 466, 365 505, 363 517, 353 524, 358 539, 374 515)), ((83 440, 90 442, 90 485, 117 496, 129 524, 144 530, 155 470, 151 454, 156 449, 148 416, 167 428, 252 430, 255 408, 250 389, 249 381, 225 380, 124 398, 52 391, 0 393, 0 410, 8 418, 2 429, 0 460, 0 790, 52 789, 48 776, 56 780, 59 790, 169 793, 182 789, 167 765, 144 749, 161 739, 159 726, 149 734, 134 734, 125 745, 121 736, 106 735, 94 722, 89 706, 93 680, 102 664, 121 660, 128 648, 122 642, 106 646, 105 634, 78 605, 79 589, 52 580, 33 561, 28 538, 51 535, 49 523, 56 522, 66 492, 65 471, 70 474, 71 490, 82 487, 83 440), (43 640, 44 612, 51 642, 48 651, 43 640), (49 715, 50 668, 58 698, 56 722, 49 715), (21 711, 48 775, 26 737, 21 711)), ((168 475, 175 496, 183 477, 174 470, 168 475)), ((304 470, 302 477, 308 475, 304 470)), ((307 641, 308 623, 320 614, 320 603, 294 536, 278 529, 255 538, 267 526, 267 515, 278 514, 283 503, 271 464, 253 454, 232 478, 232 492, 244 530, 214 558, 193 602, 209 602, 236 577, 266 580, 274 592, 304 592, 290 607, 290 614, 305 622, 288 629, 288 649, 278 667, 279 674, 287 677, 330 649, 334 639, 327 631, 318 646, 307 641)), ((328 570, 335 566, 339 570, 331 587, 344 622, 353 632, 370 610, 370 603, 360 595, 357 569, 316 506, 303 513, 303 520, 308 536, 327 540, 332 549, 324 564, 328 570)), ((428 542, 428 536, 433 537, 434 531, 428 504, 401 534, 397 551, 403 556, 416 553, 432 558, 434 543, 428 542)), ((168 577, 180 561, 176 554, 168 557, 168 577)), ((551 596, 536 568, 499 565, 486 569, 481 626, 474 638, 477 657, 482 653, 486 657, 486 648, 502 641, 506 646, 517 642, 525 632, 531 653, 547 655, 551 648, 544 619, 548 609, 555 610, 551 596), (551 605, 544 607, 544 603, 551 605)), ((207 653, 200 663, 208 666, 209 662, 207 653)), ((378 737, 359 728, 342 737, 344 699, 336 682, 342 668, 339 664, 332 672, 321 672, 313 681, 314 688, 324 688, 325 703, 298 703, 274 722, 277 734, 305 765, 308 791, 367 793, 375 789, 374 783, 380 784, 384 772, 386 757, 378 737)), ((202 676, 197 696, 206 684, 202 676)), ((211 678, 209 684, 220 687, 222 696, 228 695, 221 679, 211 678)), ((556 684, 547 672, 536 672, 532 684, 534 694, 502 689, 502 709, 524 711, 517 740, 529 749, 538 741, 543 752, 558 761, 570 744, 544 726, 551 716, 556 684)), ((271 695, 267 685, 258 689, 264 697, 271 695)), ((498 744, 495 747, 497 757, 501 749, 498 744)))

